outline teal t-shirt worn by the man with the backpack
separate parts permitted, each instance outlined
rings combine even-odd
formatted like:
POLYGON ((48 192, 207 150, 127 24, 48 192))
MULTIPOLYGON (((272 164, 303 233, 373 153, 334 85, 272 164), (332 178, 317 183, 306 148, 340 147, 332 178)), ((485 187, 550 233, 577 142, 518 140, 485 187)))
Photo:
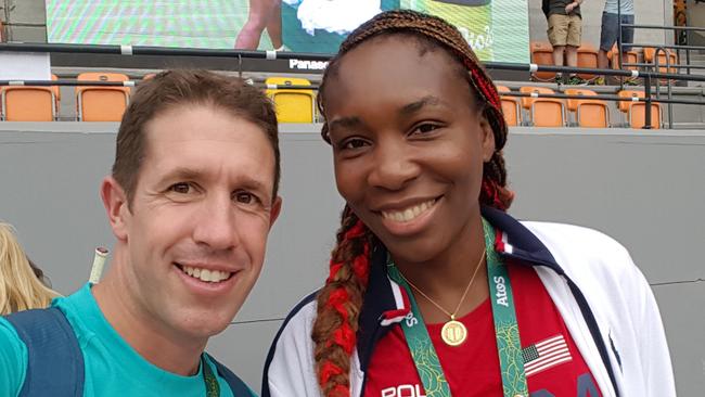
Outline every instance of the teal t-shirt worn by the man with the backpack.
MULTIPOLYGON (((84 353, 84 396, 205 396, 203 368, 193 376, 164 371, 143 359, 111 326, 93 298, 90 284, 52 306, 66 315, 84 353)), ((228 383, 208 366, 220 384, 220 396, 233 396, 228 383)), ((0 396, 17 396, 25 381, 27 348, 14 328, 0 318, 0 396)), ((252 393, 252 396, 255 396, 252 393)), ((249 397, 249 396, 244 396, 249 397)))

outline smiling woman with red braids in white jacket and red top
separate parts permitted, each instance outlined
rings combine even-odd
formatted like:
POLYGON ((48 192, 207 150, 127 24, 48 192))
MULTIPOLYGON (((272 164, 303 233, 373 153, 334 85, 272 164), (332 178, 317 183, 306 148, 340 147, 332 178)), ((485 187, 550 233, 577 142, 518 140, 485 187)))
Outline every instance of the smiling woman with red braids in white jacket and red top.
POLYGON ((675 396, 653 294, 599 232, 505 210, 495 85, 452 26, 354 31, 319 91, 347 205, 325 285, 287 317, 262 396, 675 396))

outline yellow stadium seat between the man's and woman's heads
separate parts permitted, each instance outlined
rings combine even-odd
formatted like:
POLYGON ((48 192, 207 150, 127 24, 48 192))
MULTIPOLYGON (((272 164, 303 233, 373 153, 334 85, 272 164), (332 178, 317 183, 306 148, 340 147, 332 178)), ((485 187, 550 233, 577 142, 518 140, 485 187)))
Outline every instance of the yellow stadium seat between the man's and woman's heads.
POLYGON ((267 95, 274 102, 279 123, 313 123, 316 95, 313 90, 285 89, 275 86, 310 86, 305 78, 269 77, 265 80, 267 95))

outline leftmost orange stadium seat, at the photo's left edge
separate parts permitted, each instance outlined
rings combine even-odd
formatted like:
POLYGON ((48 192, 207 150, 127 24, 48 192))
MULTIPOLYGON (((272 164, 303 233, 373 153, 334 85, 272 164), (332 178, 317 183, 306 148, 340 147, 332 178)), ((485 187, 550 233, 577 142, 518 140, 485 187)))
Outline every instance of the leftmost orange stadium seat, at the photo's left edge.
POLYGON ((56 101, 52 87, 2 87, 2 114, 5 121, 53 121, 56 101))

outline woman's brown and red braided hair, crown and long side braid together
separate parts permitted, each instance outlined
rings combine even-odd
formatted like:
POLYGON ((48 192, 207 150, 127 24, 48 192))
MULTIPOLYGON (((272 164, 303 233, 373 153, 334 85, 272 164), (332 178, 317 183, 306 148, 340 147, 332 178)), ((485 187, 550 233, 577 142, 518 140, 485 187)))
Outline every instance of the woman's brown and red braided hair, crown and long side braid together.
MULTIPOLYGON (((360 43, 383 35, 411 35, 422 42, 438 46, 458 60, 463 76, 478 98, 484 116, 492 128, 495 153, 483 167, 479 202, 505 210, 514 193, 507 188, 507 170, 502 149, 507 143, 507 124, 495 84, 458 29, 441 18, 409 10, 379 14, 352 31, 341 44, 323 75, 318 107, 325 117, 325 87, 337 73, 344 55, 360 43)), ((328 123, 321 136, 330 143, 328 123)), ((331 276, 318 295, 318 317, 313 324, 315 359, 319 384, 326 397, 349 396, 350 356, 355 349, 358 317, 367 287, 372 233, 345 207, 337 245, 331 259, 331 276)))

